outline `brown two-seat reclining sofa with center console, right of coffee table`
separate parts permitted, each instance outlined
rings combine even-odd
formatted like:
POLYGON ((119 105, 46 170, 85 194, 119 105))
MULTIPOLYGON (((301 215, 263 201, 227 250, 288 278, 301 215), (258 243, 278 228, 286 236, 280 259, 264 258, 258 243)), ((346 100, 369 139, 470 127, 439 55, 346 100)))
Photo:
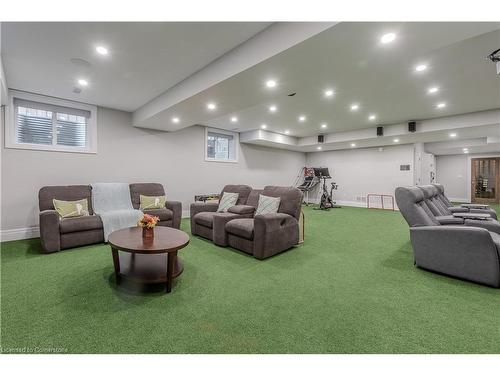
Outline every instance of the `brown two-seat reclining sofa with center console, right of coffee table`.
POLYGON ((237 204, 228 212, 216 212, 218 205, 213 203, 191 205, 192 234, 257 259, 269 258, 298 244, 303 199, 299 189, 266 186, 257 190, 246 185, 227 185, 223 189, 226 191, 239 194, 237 204), (260 194, 281 198, 277 213, 254 215, 260 194))

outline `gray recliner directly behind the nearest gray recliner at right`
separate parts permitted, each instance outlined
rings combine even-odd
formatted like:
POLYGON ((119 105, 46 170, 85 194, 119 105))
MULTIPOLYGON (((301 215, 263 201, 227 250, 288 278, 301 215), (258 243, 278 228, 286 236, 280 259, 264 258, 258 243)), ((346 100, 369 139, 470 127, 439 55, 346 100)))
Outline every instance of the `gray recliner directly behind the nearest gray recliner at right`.
MULTIPOLYGON (((439 190, 434 185, 419 186, 424 194, 424 206, 427 206, 427 213, 434 216, 441 225, 466 225, 471 227, 485 228, 491 232, 500 234, 500 223, 492 217, 483 218, 478 215, 476 218, 463 218, 461 213, 451 212, 438 198, 439 190)), ((467 212, 475 215, 476 213, 467 212)), ((484 212, 481 213, 484 215, 484 212)))

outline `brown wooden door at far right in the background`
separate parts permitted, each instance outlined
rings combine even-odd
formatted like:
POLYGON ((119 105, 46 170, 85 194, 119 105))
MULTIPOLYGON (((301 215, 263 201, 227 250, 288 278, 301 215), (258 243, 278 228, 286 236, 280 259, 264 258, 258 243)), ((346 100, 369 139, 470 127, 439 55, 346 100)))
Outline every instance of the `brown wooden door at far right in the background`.
POLYGON ((471 202, 500 202, 500 158, 471 159, 471 202))

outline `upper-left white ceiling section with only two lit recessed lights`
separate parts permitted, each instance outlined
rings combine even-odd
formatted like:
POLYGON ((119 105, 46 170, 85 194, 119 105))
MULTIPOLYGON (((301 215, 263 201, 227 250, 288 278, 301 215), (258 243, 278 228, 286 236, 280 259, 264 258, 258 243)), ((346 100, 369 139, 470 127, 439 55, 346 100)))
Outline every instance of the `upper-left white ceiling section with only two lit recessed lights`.
POLYGON ((10 88, 134 111, 269 25, 7 22, 2 60, 10 88), (95 52, 99 44, 108 56, 95 52), (74 94, 80 77, 89 85, 74 94))

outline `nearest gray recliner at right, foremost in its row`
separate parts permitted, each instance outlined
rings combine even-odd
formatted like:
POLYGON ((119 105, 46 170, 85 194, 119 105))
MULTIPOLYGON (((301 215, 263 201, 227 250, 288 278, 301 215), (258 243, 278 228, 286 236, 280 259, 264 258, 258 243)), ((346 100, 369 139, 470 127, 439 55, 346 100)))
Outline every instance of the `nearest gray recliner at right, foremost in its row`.
POLYGON ((441 225, 429 216, 422 189, 398 187, 396 202, 410 226, 415 265, 500 287, 500 235, 485 228, 441 225))

